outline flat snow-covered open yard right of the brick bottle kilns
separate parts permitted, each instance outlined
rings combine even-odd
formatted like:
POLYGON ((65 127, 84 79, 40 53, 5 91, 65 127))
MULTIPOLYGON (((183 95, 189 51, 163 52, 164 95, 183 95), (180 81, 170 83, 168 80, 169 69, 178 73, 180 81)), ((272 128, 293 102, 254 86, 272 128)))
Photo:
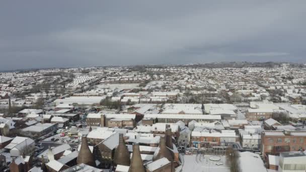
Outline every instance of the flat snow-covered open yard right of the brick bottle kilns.
POLYGON ((204 172, 204 171, 213 171, 213 172, 230 172, 230 168, 225 165, 225 156, 220 156, 220 161, 211 161, 209 160, 210 156, 215 155, 183 155, 183 165, 180 172, 204 172), (221 162, 222 165, 216 165, 216 163, 221 162))

